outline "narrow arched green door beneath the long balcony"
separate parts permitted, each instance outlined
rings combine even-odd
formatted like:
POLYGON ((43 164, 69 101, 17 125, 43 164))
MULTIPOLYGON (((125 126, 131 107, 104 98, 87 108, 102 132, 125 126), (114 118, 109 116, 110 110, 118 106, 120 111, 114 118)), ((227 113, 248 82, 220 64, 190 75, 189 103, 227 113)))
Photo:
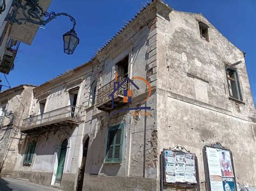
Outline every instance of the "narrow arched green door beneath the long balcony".
POLYGON ((63 174, 64 164, 65 164, 67 145, 68 145, 68 139, 63 140, 62 147, 59 153, 58 167, 57 167, 56 179, 55 179, 55 184, 58 184, 58 185, 60 185, 60 182, 62 181, 62 174, 63 174))

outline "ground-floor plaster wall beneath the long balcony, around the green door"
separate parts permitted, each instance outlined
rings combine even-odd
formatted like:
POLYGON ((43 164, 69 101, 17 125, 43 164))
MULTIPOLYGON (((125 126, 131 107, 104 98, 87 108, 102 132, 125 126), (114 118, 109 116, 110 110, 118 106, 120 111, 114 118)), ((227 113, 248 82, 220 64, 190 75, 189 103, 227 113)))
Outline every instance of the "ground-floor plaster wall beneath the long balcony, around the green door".
POLYGON ((32 182, 41 181, 40 183, 43 185, 50 185, 51 181, 49 180, 52 178, 52 173, 54 171, 56 173, 56 162, 58 161, 60 147, 65 138, 68 139, 68 146, 63 173, 73 173, 72 162, 76 150, 75 145, 77 140, 77 132, 78 128, 75 126, 62 126, 56 130, 27 135, 22 142, 22 150, 19 152, 14 176, 16 176, 15 174, 17 173, 23 172, 26 174, 31 174, 28 179, 32 182), (28 143, 30 142, 36 142, 35 154, 33 155, 32 164, 23 165, 24 153, 28 143), (33 172, 48 173, 49 177, 45 178, 45 180, 48 180, 48 182, 44 182, 44 179, 36 180, 36 177, 33 177, 33 172))

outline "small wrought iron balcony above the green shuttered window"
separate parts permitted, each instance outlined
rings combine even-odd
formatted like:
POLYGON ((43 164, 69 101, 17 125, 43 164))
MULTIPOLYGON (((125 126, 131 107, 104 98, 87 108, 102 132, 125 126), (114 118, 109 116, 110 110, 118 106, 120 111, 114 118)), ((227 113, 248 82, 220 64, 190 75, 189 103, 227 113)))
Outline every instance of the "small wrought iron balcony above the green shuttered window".
MULTIPOLYGON (((117 80, 113 80, 113 81, 107 83, 102 88, 98 89, 96 107, 99 110, 103 110, 103 111, 107 111, 107 112, 112 110, 112 98, 109 95, 114 90, 114 82, 121 83, 124 80, 125 80, 125 77, 118 77, 117 80)), ((123 103, 124 90, 127 89, 128 85, 129 85, 128 82, 125 82, 122 85, 122 87, 120 87, 114 93, 114 108, 122 107, 125 104, 125 103, 123 103)))

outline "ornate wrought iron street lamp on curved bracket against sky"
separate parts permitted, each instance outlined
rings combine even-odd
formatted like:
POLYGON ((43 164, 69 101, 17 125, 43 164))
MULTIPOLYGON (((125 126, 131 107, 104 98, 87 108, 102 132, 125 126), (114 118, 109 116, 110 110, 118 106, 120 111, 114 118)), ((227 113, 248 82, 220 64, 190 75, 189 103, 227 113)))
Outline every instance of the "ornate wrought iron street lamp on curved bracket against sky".
POLYGON ((79 44, 79 38, 77 37, 75 26, 76 20, 71 15, 65 12, 55 13, 55 12, 44 12, 43 8, 39 6, 39 0, 13 0, 12 6, 14 9, 9 13, 5 20, 9 20, 10 24, 17 23, 19 25, 26 23, 33 23, 36 25, 46 25, 58 16, 69 17, 71 22, 73 22, 73 27, 70 31, 63 34, 64 41, 64 53, 73 54, 77 45, 79 44), (18 10, 22 9, 24 18, 17 18, 18 10), (43 20, 44 17, 48 17, 43 20))

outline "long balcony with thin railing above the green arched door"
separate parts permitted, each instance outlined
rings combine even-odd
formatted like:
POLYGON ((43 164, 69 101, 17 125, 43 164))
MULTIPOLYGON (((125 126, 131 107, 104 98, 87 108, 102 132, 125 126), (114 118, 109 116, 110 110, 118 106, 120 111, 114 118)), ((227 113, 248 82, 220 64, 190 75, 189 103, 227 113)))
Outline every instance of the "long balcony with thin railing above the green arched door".
POLYGON ((73 105, 59 108, 44 114, 23 119, 21 131, 24 133, 53 130, 60 126, 78 124, 80 108, 73 105))

